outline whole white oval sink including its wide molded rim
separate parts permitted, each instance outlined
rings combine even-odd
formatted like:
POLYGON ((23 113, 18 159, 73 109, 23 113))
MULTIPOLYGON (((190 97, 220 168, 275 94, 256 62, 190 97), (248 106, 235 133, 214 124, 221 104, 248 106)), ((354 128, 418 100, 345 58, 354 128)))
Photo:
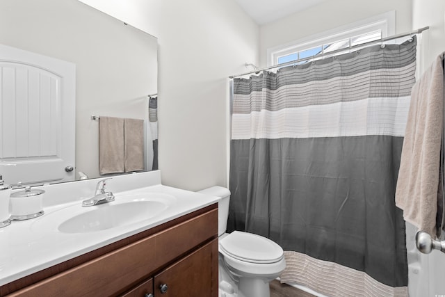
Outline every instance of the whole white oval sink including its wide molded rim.
POLYGON ((113 202, 92 207, 82 207, 79 201, 36 219, 31 228, 65 234, 100 232, 156 218, 175 201, 163 193, 117 195, 113 202))

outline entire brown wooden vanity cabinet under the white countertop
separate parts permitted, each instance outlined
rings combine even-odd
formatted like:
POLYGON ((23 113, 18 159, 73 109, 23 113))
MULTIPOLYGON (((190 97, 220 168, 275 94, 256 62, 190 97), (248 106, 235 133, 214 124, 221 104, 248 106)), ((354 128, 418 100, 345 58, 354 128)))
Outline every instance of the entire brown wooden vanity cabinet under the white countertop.
POLYGON ((72 259, 52 267, 49 277, 35 273, 6 284, 0 287, 0 296, 217 297, 217 204, 81 258, 81 264, 82 259, 72 259))

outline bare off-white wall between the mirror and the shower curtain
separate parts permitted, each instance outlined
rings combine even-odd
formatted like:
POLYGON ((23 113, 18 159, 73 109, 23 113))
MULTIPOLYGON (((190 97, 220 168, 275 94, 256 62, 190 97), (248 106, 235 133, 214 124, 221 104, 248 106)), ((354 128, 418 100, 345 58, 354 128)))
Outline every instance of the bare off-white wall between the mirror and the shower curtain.
POLYGON ((163 0, 159 167, 164 184, 227 186, 227 77, 258 61, 258 26, 234 0, 163 0))

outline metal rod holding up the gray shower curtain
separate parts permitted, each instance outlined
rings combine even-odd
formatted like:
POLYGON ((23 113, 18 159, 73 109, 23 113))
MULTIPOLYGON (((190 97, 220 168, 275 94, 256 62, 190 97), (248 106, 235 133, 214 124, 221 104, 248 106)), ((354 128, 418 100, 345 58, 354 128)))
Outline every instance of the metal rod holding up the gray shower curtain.
POLYGON ((423 27, 421 29, 417 29, 417 30, 410 31, 410 32, 407 32, 407 33, 401 33, 401 34, 385 37, 385 38, 382 38, 382 39, 379 39, 379 40, 373 40, 373 41, 365 42, 365 43, 362 43, 361 45, 355 45, 354 47, 349 46, 349 47, 344 48, 344 49, 336 49, 334 51, 329 51, 329 52, 327 52, 325 54, 320 54, 320 55, 317 55, 317 56, 310 56, 310 57, 307 57, 307 58, 300 58, 300 59, 289 61, 289 62, 286 62, 286 63, 281 63, 281 64, 272 65, 272 66, 268 66, 268 67, 258 68, 257 70, 252 70, 250 72, 245 72, 243 74, 231 75, 229 77, 229 79, 234 79, 235 77, 243 77, 244 75, 248 75, 248 74, 252 74, 252 73, 259 73, 259 72, 261 72, 263 70, 269 70, 269 69, 273 69, 273 68, 277 68, 277 67, 284 67, 284 66, 287 66, 287 65, 293 65, 293 64, 298 63, 298 62, 309 61, 309 60, 312 60, 312 59, 318 58, 318 57, 330 56, 332 54, 337 54, 339 52, 346 51, 347 49, 355 49, 355 48, 358 49, 358 48, 362 48, 362 47, 367 46, 367 45, 373 45, 373 44, 379 43, 379 42, 385 42, 385 41, 388 41, 388 40, 393 40, 393 39, 402 38, 402 37, 405 37, 405 36, 419 34, 419 33, 422 33, 423 31, 428 30, 428 29, 430 29, 430 27, 426 26, 426 27, 423 27))

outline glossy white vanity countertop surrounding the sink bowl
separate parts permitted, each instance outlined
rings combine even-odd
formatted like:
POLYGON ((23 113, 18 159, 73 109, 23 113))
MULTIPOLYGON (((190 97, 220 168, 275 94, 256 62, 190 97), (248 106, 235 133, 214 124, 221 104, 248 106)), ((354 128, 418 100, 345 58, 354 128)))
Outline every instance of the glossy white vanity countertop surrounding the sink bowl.
MULTIPOLYGON (((143 177, 151 177, 150 174, 159 175, 160 173, 145 172, 143 177)), ((125 179, 128 178, 128 176, 125 177, 125 179)), ((112 182, 118 184, 120 180, 116 179, 112 182)), ((43 216, 31 220, 14 221, 11 225, 0 228, 0 286, 161 225, 169 220, 179 218, 179 216, 207 207, 219 200, 219 198, 213 196, 163 186, 160 183, 156 184, 158 180, 160 181, 157 176, 155 176, 154 182, 147 182, 145 178, 141 180, 143 182, 136 185, 131 184, 133 188, 131 190, 113 191, 115 202, 109 202, 109 204, 119 203, 120 197, 128 197, 128 195, 157 195, 158 199, 165 198, 169 200, 170 206, 153 218, 108 230, 67 234, 58 231, 58 225, 60 224, 58 220, 60 220, 60 214, 63 214, 64 209, 71 207, 70 209, 75 209, 75 211, 82 211, 82 209, 86 210, 89 207, 81 207, 81 201, 84 197, 68 202, 65 201, 66 198, 60 199, 64 202, 61 204, 55 204, 54 201, 57 198, 51 197, 47 199, 50 202, 44 203, 43 216), (142 184, 145 184, 145 186, 142 184), (135 188, 135 186, 140 187, 135 188), (72 207, 76 205, 79 205, 79 208, 72 207)), ((92 179, 92 181, 88 184, 93 183, 94 186, 97 179, 92 179)), ((86 187, 86 184, 81 182, 68 183, 67 185, 71 187, 67 191, 71 191, 73 187, 86 187)), ((51 193, 51 188, 49 190, 51 193)), ((63 193, 63 186, 58 185, 58 191, 51 193, 51 195, 55 193, 57 195, 63 193)), ((90 193, 94 193, 94 191, 90 193)), ((95 207, 105 205, 101 204, 95 207)))

